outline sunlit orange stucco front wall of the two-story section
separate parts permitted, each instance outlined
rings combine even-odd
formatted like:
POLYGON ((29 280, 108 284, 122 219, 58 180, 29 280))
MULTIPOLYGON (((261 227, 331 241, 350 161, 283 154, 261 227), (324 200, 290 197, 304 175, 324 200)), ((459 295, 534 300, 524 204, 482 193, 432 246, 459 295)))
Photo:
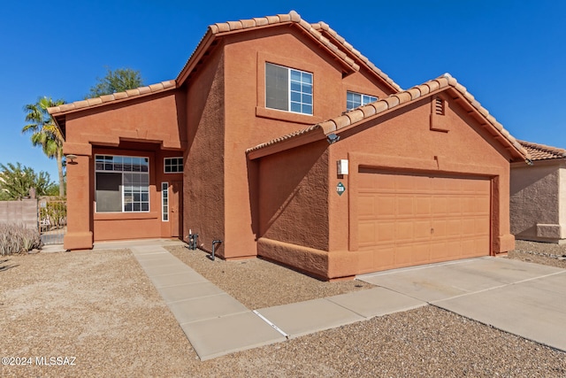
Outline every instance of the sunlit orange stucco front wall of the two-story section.
POLYGON ((346 110, 346 91, 385 96, 362 73, 342 79, 343 67, 316 42, 282 27, 226 37, 226 258, 256 254, 257 166, 245 150, 280 135, 330 119, 346 110), (313 115, 265 108, 265 63, 313 73, 313 115))

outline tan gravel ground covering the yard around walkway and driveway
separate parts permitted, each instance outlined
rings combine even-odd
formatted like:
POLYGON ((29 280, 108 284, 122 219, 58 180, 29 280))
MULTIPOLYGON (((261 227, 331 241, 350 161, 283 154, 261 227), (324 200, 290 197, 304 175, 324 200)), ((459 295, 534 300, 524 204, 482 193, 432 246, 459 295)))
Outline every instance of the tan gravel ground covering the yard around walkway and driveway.
MULTIPOLYGON (((549 244, 539 244, 535 251, 517 243, 509 258, 563 263, 540 255, 549 244)), ((219 287, 232 285, 226 291, 250 308, 368 287, 318 282, 258 259, 212 263, 202 252, 172 253, 219 287)), ((0 366, 3 377, 566 375, 566 353, 433 306, 200 361, 125 250, 0 257, 0 314, 0 357, 32 358, 29 366, 0 366), (76 359, 73 366, 35 360, 57 356, 76 359)))

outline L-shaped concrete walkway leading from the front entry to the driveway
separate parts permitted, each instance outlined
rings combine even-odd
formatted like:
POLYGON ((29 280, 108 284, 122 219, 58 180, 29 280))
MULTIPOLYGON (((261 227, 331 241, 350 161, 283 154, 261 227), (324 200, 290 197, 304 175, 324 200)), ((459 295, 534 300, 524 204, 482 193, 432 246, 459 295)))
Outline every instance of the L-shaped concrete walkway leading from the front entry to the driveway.
POLYGON ((425 305, 375 288, 251 311, 166 251, 159 241, 97 245, 97 249, 111 248, 128 248, 134 253, 202 360, 425 305))

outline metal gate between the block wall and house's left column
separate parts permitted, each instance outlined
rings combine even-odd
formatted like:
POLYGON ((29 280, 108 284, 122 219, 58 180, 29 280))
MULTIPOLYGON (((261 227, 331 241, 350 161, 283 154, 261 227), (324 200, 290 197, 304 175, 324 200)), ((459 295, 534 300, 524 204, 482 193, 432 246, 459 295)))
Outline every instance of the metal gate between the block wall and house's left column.
POLYGON ((61 197, 43 197, 37 203, 42 243, 63 244, 67 231, 67 201, 61 197))

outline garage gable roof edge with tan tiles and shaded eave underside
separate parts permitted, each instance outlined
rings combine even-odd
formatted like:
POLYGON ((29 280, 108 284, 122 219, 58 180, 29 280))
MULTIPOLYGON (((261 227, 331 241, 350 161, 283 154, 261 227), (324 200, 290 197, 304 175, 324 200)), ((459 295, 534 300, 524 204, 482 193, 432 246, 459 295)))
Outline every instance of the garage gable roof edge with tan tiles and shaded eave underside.
POLYGON ((272 139, 269 142, 261 143, 246 150, 249 158, 261 158, 270 155, 279 150, 287 150, 297 147, 302 144, 311 143, 317 140, 324 139, 326 135, 338 133, 344 129, 356 127, 362 124, 365 120, 378 117, 391 110, 401 107, 405 104, 410 104, 417 101, 418 98, 428 96, 431 94, 439 93, 445 90, 453 89, 455 93, 454 100, 460 99, 464 104, 468 104, 471 113, 475 113, 476 118, 480 121, 481 125, 490 129, 492 135, 498 139, 516 158, 523 158, 525 161, 530 161, 530 155, 527 150, 512 136, 509 132, 501 126, 495 118, 487 112, 486 108, 481 106, 478 101, 468 92, 468 90, 455 80, 450 74, 444 75, 426 81, 424 84, 417 85, 411 89, 395 93, 394 95, 387 96, 374 103, 366 104, 353 109, 349 112, 344 112, 339 117, 332 120, 326 120, 316 125, 298 130, 292 134, 280 136, 279 138, 272 139))

